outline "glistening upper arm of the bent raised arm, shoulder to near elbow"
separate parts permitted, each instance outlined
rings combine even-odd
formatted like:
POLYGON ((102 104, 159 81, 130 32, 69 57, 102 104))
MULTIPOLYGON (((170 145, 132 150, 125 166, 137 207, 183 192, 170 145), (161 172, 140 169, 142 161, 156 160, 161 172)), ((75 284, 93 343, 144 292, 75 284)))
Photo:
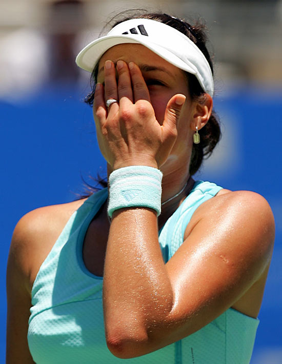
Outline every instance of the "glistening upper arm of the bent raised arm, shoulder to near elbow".
POLYGON ((167 263, 170 320, 187 336, 230 308, 267 268, 273 241, 273 215, 260 195, 238 191, 208 201, 167 263))

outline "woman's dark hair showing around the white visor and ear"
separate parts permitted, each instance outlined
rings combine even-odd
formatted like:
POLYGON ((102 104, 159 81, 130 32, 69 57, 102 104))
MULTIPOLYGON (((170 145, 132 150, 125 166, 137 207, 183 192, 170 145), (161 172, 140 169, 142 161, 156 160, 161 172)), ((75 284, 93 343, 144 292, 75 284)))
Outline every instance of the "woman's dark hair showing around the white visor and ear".
MULTIPOLYGON (((125 15, 125 12, 118 14, 125 15)), ((128 14, 128 12, 126 12, 128 14)), ((213 74, 213 64, 212 59, 209 54, 209 51, 206 47, 207 42, 207 36, 206 36, 206 26, 197 21, 195 25, 190 25, 189 23, 183 21, 182 19, 179 19, 174 16, 170 16, 168 14, 162 14, 162 13, 146 13, 142 11, 142 13, 135 13, 132 16, 124 17, 120 21, 116 21, 115 24, 112 26, 115 27, 119 23, 125 22, 130 19, 136 19, 136 18, 145 18, 145 19, 152 19, 157 22, 161 22, 164 24, 167 24, 171 26, 172 28, 178 30, 179 32, 182 32, 185 34, 195 45, 202 51, 202 53, 207 58, 207 61, 210 65, 212 74, 213 74)), ((116 19, 116 16, 113 18, 116 19)), ((89 105, 93 105, 94 100, 94 92, 95 92, 95 85, 96 85, 96 78, 97 78, 97 72, 98 67, 94 68, 92 74, 91 74, 91 86, 92 91, 91 93, 85 98, 85 102, 89 105)), ((197 78, 195 75, 192 75, 191 73, 185 72, 187 79, 188 79, 188 85, 190 90, 190 95, 193 100, 196 100, 199 103, 202 103, 205 100, 205 92, 203 88, 200 86, 197 78)), ((221 132, 219 127, 219 121, 218 116, 212 111, 212 114, 210 116, 209 122, 205 125, 204 128, 199 130, 200 134, 200 143, 199 144, 193 144, 192 148, 192 155, 190 160, 190 166, 189 166, 189 173, 190 175, 195 174, 200 166, 202 165, 202 161, 204 159, 204 156, 208 158, 216 144, 218 143, 221 132)))

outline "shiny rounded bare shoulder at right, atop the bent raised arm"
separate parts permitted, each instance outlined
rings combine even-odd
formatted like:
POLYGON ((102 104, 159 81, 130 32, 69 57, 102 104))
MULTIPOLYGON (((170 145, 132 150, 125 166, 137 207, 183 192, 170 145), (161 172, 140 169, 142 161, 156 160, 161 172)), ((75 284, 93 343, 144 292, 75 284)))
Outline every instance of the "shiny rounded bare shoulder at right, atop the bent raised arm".
POLYGON ((273 213, 267 200, 252 191, 220 190, 193 216, 214 234, 232 236, 231 246, 269 261, 275 235, 273 213))

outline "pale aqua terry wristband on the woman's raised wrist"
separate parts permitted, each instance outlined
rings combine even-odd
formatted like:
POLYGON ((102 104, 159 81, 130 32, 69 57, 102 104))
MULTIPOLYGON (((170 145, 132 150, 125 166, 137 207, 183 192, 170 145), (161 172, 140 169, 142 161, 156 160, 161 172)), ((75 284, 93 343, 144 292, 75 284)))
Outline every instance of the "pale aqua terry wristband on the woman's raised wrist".
POLYGON ((130 166, 109 177, 108 215, 125 207, 149 207, 160 214, 163 173, 148 166, 130 166))

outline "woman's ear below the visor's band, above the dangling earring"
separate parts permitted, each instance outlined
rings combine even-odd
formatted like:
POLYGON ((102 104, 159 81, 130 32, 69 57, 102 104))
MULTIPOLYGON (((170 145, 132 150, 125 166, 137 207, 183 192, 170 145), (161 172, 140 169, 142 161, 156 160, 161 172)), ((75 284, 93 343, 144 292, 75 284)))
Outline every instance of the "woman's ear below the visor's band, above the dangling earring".
POLYGON ((194 112, 192 114, 191 129, 193 131, 202 129, 209 121, 212 113, 213 100, 211 95, 205 93, 201 102, 195 102, 194 112))

